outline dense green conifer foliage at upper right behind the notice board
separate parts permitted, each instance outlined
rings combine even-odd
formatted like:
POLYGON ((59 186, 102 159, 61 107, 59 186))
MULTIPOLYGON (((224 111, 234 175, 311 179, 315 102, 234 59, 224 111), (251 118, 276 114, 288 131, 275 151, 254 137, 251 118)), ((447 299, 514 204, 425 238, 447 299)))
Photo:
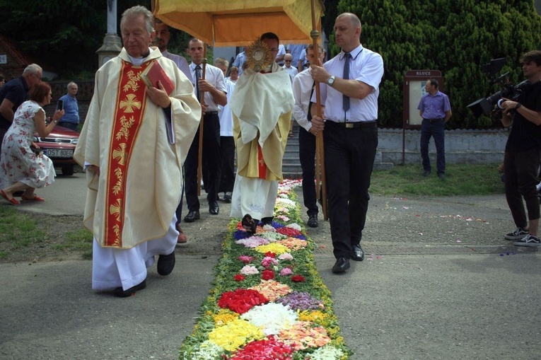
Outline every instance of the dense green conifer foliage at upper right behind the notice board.
POLYGON ((533 0, 341 0, 338 13, 343 12, 361 18, 361 43, 383 57, 379 120, 388 127, 402 127, 403 78, 412 69, 441 71, 453 108, 448 127, 498 125, 467 108, 500 90, 481 65, 505 57, 502 74, 509 71, 511 82, 518 83, 520 55, 537 49, 541 40, 533 0))

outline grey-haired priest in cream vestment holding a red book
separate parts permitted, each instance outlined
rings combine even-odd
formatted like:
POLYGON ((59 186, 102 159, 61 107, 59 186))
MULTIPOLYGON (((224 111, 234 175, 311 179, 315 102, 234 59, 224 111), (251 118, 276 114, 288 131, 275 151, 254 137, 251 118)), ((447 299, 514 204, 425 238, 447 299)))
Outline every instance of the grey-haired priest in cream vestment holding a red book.
POLYGON ((122 52, 100 67, 74 154, 86 166, 84 226, 94 236, 92 288, 131 296, 146 287, 146 268, 175 266, 175 209, 182 163, 199 126, 192 81, 156 47, 143 6, 122 14, 122 52), (141 72, 161 65, 173 83, 147 87, 141 72))

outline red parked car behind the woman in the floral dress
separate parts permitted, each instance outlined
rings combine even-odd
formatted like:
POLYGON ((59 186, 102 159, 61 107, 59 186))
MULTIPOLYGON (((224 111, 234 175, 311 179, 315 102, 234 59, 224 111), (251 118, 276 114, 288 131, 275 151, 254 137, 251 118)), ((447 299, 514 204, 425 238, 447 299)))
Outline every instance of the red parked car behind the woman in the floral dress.
POLYGON ((33 141, 45 155, 51 158, 55 168, 62 168, 62 175, 74 175, 76 162, 74 161, 75 146, 79 140, 79 133, 65 127, 56 126, 47 137, 34 134, 33 141))

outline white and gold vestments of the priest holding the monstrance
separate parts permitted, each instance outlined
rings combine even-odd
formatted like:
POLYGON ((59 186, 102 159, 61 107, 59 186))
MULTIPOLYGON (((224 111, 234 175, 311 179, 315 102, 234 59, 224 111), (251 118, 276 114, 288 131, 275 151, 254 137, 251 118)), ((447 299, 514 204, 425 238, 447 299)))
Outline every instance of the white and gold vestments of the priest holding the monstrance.
POLYGON ((262 158, 264 180, 282 180, 282 158, 294 103, 289 73, 278 64, 273 63, 268 74, 243 71, 231 97, 239 175, 260 178, 262 158))

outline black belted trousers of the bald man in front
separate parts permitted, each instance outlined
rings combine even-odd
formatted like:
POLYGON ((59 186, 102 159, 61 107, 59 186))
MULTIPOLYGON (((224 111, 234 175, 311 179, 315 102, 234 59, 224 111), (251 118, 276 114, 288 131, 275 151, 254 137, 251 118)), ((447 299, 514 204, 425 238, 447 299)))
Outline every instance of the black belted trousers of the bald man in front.
POLYGON ((378 147, 376 122, 356 125, 359 127, 346 128, 327 120, 323 132, 327 210, 337 258, 349 258, 352 246, 361 241, 378 147))

